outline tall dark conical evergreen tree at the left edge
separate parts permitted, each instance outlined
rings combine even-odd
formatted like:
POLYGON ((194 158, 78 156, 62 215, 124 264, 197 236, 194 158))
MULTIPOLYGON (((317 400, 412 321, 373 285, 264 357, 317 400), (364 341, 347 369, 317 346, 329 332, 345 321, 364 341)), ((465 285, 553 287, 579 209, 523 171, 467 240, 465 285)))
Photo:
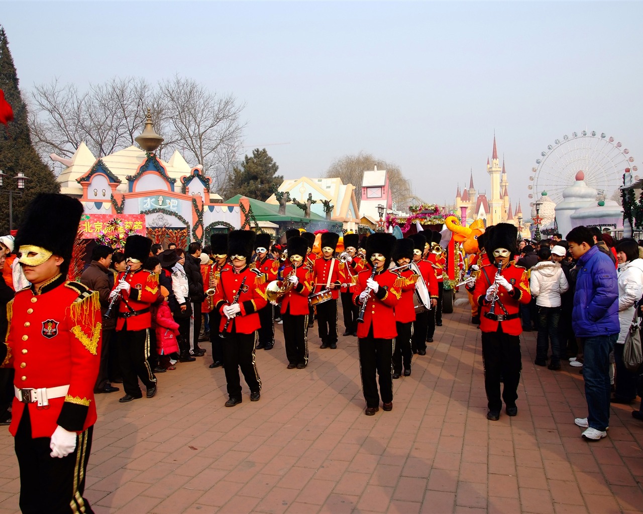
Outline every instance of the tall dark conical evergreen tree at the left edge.
MULTIPOLYGON (((9 51, 5 29, 0 26, 0 89, 5 92, 5 100, 14 111, 14 121, 6 127, 0 125, 0 170, 6 173, 0 189, 14 191, 14 229, 19 226, 24 207, 38 193, 58 193, 60 184, 51 169, 42 162, 32 146, 27 125, 27 107, 18 87, 18 75, 14 59, 9 51), (18 182, 12 178, 18 172, 30 177, 26 181, 23 194, 19 195, 18 182)), ((52 213, 55 215, 55 213, 52 213)), ((9 233, 9 195, 0 195, 0 235, 9 233)))

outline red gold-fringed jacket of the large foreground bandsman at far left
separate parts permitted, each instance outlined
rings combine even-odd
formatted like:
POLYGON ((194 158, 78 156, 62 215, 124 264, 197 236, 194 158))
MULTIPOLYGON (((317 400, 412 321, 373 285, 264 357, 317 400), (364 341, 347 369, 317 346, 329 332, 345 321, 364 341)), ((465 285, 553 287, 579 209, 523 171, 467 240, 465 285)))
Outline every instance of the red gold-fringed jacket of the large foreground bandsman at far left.
MULTIPOLYGON (((56 425, 73 432, 91 427, 102 332, 98 292, 59 275, 38 294, 33 286, 17 292, 7 305, 7 318, 3 366, 15 369, 15 387, 69 385, 66 396, 49 399, 48 408, 28 404, 32 437, 49 438, 56 425)), ((14 436, 25 405, 14 398, 9 427, 14 436)))

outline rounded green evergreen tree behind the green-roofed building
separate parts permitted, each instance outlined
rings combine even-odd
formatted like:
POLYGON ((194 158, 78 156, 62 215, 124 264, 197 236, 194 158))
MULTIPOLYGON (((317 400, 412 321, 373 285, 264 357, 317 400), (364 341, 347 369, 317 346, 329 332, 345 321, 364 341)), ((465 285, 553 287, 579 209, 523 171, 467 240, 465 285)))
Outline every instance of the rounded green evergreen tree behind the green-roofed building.
POLYGON ((273 194, 273 187, 280 186, 284 181, 283 175, 275 175, 278 169, 279 166, 268 155, 266 148, 255 148, 252 157, 244 157, 240 168, 233 168, 221 196, 228 199, 235 195, 244 195, 265 202, 273 194))

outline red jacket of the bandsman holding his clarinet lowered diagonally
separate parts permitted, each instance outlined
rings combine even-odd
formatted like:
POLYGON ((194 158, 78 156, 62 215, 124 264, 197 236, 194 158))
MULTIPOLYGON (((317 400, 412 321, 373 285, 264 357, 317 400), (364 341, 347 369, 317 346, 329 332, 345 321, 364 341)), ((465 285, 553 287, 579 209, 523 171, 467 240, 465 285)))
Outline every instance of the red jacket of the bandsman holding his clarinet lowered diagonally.
POLYGON ((248 266, 238 273, 233 266, 224 266, 221 270, 219 287, 214 295, 214 308, 221 312, 219 332, 223 332, 226 321, 228 321, 226 315, 223 314, 223 307, 234 303, 244 277, 246 282, 237 301, 241 312, 228 324, 228 333, 253 333, 260 326, 257 311, 268 303, 264 274, 258 269, 250 269, 248 266))

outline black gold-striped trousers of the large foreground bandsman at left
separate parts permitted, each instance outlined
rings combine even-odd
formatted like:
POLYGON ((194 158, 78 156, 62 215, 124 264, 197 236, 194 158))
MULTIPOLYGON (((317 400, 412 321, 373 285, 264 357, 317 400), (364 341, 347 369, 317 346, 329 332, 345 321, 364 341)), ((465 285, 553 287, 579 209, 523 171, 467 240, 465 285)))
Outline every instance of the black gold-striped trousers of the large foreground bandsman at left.
POLYGON ((32 438, 29 409, 24 409, 14 440, 23 514, 93 514, 82 496, 93 429, 89 427, 77 435, 76 449, 71 454, 62 459, 51 457, 51 439, 32 438))

